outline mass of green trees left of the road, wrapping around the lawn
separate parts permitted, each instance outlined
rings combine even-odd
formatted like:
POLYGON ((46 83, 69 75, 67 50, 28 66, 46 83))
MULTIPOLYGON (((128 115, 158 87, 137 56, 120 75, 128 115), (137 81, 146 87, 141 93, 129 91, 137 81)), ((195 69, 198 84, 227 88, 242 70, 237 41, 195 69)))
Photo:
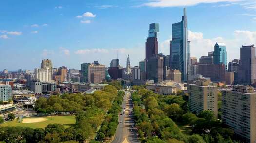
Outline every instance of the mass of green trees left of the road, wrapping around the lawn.
MULTIPOLYGON (((112 102, 119 104, 120 93, 114 86, 107 85, 93 94, 52 95, 40 97, 35 111, 40 114, 70 112, 75 114, 76 123, 69 128, 60 124, 49 124, 43 128, 0 127, 0 141, 3 143, 83 143, 93 140, 106 112, 111 111, 112 102), (116 100, 117 99, 117 100, 116 100), (111 108, 111 109, 110 109, 111 108)), ((91 141, 91 143, 97 143, 91 141)))

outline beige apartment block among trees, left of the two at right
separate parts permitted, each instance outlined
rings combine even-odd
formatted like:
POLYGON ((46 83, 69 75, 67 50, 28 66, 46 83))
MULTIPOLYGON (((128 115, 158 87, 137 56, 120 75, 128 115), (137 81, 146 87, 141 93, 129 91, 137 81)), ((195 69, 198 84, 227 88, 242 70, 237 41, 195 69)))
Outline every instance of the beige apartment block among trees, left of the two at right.
POLYGON ((218 116, 218 88, 212 86, 210 80, 196 81, 188 85, 190 111, 199 114, 201 111, 210 110, 218 116))

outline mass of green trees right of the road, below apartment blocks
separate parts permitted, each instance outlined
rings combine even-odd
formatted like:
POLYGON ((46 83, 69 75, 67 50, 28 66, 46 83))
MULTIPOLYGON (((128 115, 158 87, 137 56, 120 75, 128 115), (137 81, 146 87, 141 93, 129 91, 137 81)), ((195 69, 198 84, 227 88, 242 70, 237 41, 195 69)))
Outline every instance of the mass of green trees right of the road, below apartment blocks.
POLYGON ((132 94, 134 120, 142 143, 238 143, 234 132, 214 117, 212 111, 199 115, 188 110, 188 97, 159 95, 136 86, 132 94), (176 125, 187 125, 190 133, 176 125))

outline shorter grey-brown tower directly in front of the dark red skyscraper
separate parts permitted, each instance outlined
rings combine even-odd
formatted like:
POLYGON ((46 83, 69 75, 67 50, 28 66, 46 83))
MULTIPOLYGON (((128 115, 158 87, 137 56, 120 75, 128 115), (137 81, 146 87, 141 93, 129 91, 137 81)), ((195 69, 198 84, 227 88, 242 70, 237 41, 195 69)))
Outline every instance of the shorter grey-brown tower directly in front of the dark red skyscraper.
POLYGON ((147 79, 154 82, 163 81, 163 57, 158 55, 148 59, 147 79))

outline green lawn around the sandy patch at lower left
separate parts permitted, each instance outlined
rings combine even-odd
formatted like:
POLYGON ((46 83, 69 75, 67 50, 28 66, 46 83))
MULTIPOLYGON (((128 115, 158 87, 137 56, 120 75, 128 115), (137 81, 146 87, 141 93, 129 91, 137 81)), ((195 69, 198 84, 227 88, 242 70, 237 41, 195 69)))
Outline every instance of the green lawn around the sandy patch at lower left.
MULTIPOLYGON (((49 117, 35 117, 35 118, 26 118, 26 119, 36 119, 36 118, 45 118, 46 121, 37 122, 37 123, 19 123, 17 119, 13 121, 8 121, 0 125, 3 126, 21 126, 21 127, 31 127, 31 128, 44 128, 48 124, 62 124, 65 128, 72 127, 76 120, 75 116, 49 116, 49 117)), ((25 118, 23 118, 25 119, 25 118)))

